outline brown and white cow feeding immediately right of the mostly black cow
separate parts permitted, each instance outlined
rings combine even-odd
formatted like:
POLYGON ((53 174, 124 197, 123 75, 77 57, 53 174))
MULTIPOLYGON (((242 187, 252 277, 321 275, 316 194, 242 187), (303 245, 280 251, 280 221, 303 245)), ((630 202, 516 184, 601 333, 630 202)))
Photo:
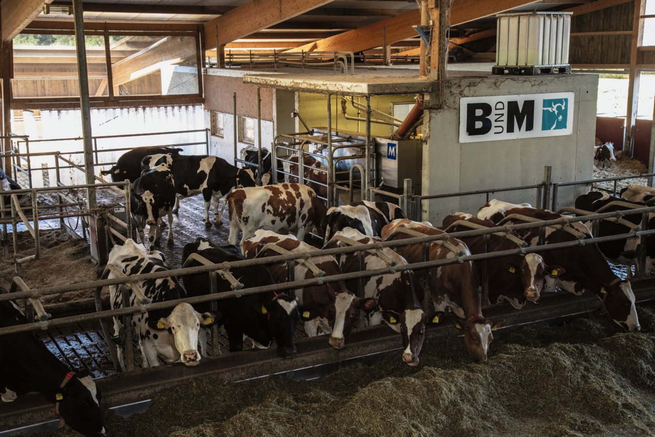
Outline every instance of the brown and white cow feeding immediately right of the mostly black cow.
MULTIPOLYGON (((292 235, 279 235, 272 231, 258 229, 251 238, 243 242, 244 255, 248 258, 275 256, 277 252, 265 250, 268 244, 273 244, 293 253, 313 252, 316 248, 297 240, 292 235)), ((324 255, 308 259, 325 276, 339 275, 339 263, 333 256, 324 255)), ((273 279, 278 284, 288 282, 287 263, 269 265, 273 279)), ((310 279, 314 273, 305 263, 295 263, 293 278, 295 280, 310 279)), ((339 280, 322 285, 299 288, 295 295, 303 308, 305 332, 310 337, 318 335, 318 329, 329 333, 329 345, 334 349, 343 349, 345 337, 352 330, 352 322, 358 309, 368 311, 377 305, 375 299, 361 299, 348 291, 345 282, 339 280)))

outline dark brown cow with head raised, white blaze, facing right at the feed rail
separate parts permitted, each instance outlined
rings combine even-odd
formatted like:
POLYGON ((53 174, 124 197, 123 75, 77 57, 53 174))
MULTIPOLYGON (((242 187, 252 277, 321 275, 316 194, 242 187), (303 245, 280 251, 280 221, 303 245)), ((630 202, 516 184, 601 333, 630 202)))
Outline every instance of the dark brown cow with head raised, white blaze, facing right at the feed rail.
MULTIPOLYGON (((461 212, 447 216, 443 219, 441 227, 449 232, 470 231, 470 228, 464 225, 452 226, 458 220, 468 221, 484 227, 496 227, 493 221, 477 219, 470 214, 461 212)), ((510 235, 520 240, 515 233, 510 233, 510 235)), ((483 235, 464 237, 461 240, 466 243, 472 254, 485 253, 485 237, 483 235)), ((508 237, 491 234, 489 235, 486 252, 516 249, 518 246, 517 242, 514 241, 508 237)), ((527 254, 525 256, 516 254, 487 259, 486 262, 489 275, 489 301, 498 303, 505 300, 516 309, 523 308, 526 301, 536 302, 539 300, 541 291, 544 288, 545 276, 553 274, 557 276, 563 273, 563 269, 559 266, 547 267, 542 256, 538 254, 527 254)), ((479 279, 481 279, 484 263, 485 261, 474 262, 479 279)))

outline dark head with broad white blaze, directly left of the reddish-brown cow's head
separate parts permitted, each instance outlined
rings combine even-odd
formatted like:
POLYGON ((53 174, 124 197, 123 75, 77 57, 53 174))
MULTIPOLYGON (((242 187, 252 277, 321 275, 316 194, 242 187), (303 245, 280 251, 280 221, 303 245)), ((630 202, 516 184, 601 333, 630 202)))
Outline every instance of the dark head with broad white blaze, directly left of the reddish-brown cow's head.
POLYGON ((419 354, 423 349, 428 315, 420 308, 408 308, 400 314, 384 311, 383 320, 402 335, 403 362, 409 366, 417 366, 419 354))

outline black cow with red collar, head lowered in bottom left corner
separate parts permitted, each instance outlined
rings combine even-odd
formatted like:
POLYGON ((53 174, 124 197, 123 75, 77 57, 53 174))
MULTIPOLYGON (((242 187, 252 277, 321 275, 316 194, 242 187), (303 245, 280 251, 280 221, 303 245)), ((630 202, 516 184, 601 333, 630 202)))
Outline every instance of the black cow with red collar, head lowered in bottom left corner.
MULTIPOLYGON (((0 287, 0 294, 5 293, 0 287)), ((27 322, 14 301, 0 301, 0 328, 27 322)), ((0 397, 12 402, 28 392, 43 394, 65 423, 84 436, 105 435, 100 390, 88 371, 69 370, 33 332, 0 335, 0 397)))

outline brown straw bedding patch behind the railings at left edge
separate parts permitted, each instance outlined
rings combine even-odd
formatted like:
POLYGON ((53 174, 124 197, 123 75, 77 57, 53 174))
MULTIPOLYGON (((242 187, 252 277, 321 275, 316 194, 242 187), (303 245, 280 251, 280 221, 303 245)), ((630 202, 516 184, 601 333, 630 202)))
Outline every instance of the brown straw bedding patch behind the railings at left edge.
MULTIPOLYGON (((62 230, 41 230, 39 235, 41 256, 23 263, 20 275, 29 288, 45 288, 97 279, 96 263, 90 255, 86 241, 72 237, 62 230)), ((9 240, 11 241, 11 236, 9 240)), ((9 256, 2 257, 0 263, 0 286, 7 290, 12 278, 16 276, 11 243, 9 252, 9 256)), ((18 233, 18 252, 18 257, 34 254, 34 239, 28 232, 18 233)), ((47 304, 92 297, 94 290, 82 290, 44 296, 41 301, 47 304)))

